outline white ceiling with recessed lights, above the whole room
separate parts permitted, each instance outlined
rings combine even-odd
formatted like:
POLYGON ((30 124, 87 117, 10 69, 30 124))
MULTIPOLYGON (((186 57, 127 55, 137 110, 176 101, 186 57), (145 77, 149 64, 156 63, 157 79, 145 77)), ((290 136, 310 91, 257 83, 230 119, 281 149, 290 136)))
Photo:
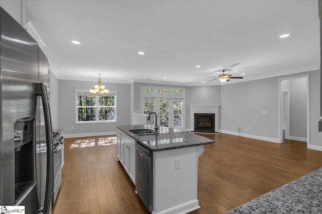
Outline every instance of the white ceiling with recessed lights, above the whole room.
POLYGON ((319 69, 317 9, 317 1, 39 0, 26 1, 26 19, 59 79, 219 85, 209 80, 222 69, 245 73, 229 83, 319 69))

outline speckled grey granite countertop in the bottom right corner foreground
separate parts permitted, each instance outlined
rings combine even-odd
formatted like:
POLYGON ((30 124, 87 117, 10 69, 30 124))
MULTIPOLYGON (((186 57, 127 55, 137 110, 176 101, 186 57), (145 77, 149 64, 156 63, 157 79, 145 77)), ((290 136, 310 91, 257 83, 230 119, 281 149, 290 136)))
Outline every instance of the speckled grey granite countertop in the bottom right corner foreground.
POLYGON ((322 213, 322 168, 226 212, 322 213))

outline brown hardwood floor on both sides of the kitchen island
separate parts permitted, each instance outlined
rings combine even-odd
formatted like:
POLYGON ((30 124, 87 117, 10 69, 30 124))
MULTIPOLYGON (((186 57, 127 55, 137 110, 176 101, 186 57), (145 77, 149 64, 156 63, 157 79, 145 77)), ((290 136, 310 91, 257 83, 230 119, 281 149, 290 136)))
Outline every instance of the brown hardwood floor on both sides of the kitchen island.
MULTIPOLYGON (((228 134, 215 140, 198 161, 195 213, 224 213, 322 167, 322 151, 306 143, 282 144, 228 134)), ((62 184, 53 206, 60 213, 148 213, 127 173, 116 161, 116 136, 65 138, 62 184)))

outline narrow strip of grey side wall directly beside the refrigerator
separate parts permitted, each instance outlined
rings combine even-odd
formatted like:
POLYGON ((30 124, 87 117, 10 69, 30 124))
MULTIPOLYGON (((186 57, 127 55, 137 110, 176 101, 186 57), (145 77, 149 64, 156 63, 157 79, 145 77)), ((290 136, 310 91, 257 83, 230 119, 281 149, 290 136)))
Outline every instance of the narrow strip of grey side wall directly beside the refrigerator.
POLYGON ((50 92, 49 92, 49 99, 50 99, 50 112, 51 112, 51 124, 53 129, 58 129, 58 120, 59 120, 59 114, 58 114, 58 79, 57 77, 50 72, 49 77, 49 86, 50 86, 50 92))

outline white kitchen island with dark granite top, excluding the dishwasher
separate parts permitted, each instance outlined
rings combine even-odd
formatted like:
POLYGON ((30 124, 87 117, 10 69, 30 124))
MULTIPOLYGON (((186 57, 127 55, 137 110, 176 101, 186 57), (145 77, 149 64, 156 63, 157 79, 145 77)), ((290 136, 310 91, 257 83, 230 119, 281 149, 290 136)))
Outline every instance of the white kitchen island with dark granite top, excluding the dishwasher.
POLYGON ((160 127, 154 135, 137 135, 130 130, 154 130, 154 125, 117 126, 118 154, 135 184, 135 142, 152 151, 152 212, 187 213, 200 208, 197 199, 198 158, 203 145, 214 143, 199 135, 160 127))

